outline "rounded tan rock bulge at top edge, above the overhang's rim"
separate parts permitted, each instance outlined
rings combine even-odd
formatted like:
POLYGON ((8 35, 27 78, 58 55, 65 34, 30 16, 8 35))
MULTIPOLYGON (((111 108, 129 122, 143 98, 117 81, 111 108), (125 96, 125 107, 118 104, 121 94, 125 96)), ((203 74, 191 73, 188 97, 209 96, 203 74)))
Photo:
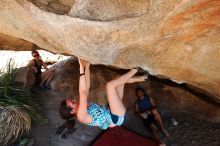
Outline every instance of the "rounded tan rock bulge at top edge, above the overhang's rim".
POLYGON ((144 15, 150 0, 76 0, 68 13, 70 16, 89 20, 118 20, 144 15))

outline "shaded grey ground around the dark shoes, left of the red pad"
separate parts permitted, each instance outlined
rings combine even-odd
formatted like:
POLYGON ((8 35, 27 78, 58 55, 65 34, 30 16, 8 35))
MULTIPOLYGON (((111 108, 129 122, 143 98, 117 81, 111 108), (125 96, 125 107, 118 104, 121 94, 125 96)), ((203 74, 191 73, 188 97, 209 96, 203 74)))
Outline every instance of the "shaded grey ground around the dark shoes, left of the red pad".
POLYGON ((56 135, 57 127, 64 123, 58 113, 59 104, 64 98, 59 93, 50 90, 35 90, 34 94, 40 97, 42 111, 48 123, 33 126, 30 133, 30 138, 34 140, 33 146, 87 146, 100 134, 99 128, 76 122, 75 132, 68 135, 66 139, 61 138, 61 135, 56 135))

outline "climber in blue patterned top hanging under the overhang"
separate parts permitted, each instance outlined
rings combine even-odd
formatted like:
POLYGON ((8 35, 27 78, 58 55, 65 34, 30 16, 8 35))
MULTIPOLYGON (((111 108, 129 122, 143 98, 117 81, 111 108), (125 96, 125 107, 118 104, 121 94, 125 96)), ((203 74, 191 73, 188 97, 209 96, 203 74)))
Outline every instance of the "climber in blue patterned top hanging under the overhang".
POLYGON ((59 107, 62 118, 69 119, 76 116, 78 121, 101 129, 120 126, 125 120, 126 109, 122 103, 125 83, 143 82, 147 76, 133 77, 138 69, 131 69, 128 73, 106 84, 106 93, 109 106, 100 106, 89 103, 90 63, 79 59, 79 101, 76 99, 63 100, 59 107))

